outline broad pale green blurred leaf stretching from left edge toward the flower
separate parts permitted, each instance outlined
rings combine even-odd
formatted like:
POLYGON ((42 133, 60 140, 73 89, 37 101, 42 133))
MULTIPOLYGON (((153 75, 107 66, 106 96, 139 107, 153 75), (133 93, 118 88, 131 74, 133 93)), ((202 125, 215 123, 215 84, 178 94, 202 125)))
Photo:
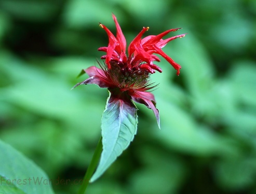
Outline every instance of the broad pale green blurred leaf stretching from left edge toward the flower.
MULTIPOLYGON (((83 87, 71 91, 73 84, 69 84, 65 77, 56 74, 47 75, 35 67, 26 66, 8 53, 0 59, 1 61, 4 64, 2 69, 8 74, 12 83, 0 90, 4 101, 51 119, 62 120, 72 125, 73 129, 78 129, 88 140, 92 137, 98 139, 104 99, 100 96, 85 95, 85 92, 82 93, 83 96, 78 95, 77 91, 84 90, 83 87), (8 66, 10 63, 12 66, 8 66), (95 101, 96 98, 99 101, 95 101), (83 103, 84 100, 91 101, 89 106, 83 103), (89 117, 92 118, 90 121, 85 120, 89 117), (85 122, 89 124, 85 125, 85 122), (90 126, 87 133, 84 132, 85 126, 90 126)), ((79 71, 80 68, 77 69, 77 72, 79 71)), ((74 73, 74 77, 76 75, 74 73)))

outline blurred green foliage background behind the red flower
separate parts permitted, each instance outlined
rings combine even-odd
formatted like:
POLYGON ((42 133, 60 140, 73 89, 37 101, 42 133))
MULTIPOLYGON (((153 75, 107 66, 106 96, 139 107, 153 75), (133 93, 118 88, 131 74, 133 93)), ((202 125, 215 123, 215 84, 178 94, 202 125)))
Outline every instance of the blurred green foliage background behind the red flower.
MULTIPOLYGON (((138 133, 88 193, 256 193, 256 1, 0 0, 0 138, 52 179, 82 178, 108 96, 79 86, 107 45, 99 22, 129 43, 182 27, 152 82, 160 111, 139 108, 138 133)), ((75 193, 74 184, 53 185, 75 193)))

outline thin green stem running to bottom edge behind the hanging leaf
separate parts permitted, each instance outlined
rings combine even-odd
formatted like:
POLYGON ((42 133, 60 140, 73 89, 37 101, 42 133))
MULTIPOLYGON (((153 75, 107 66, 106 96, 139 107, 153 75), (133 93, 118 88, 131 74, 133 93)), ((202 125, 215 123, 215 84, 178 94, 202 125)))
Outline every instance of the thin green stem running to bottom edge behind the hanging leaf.
POLYGON ((91 176, 93 174, 93 172, 95 171, 99 160, 100 160, 100 156, 101 156, 101 152, 102 152, 102 137, 100 137, 100 140, 98 142, 98 145, 96 147, 96 150, 92 156, 90 165, 85 173, 84 176, 84 180, 83 180, 83 185, 80 187, 78 194, 85 194, 86 188, 89 184, 89 181, 91 179, 91 176))

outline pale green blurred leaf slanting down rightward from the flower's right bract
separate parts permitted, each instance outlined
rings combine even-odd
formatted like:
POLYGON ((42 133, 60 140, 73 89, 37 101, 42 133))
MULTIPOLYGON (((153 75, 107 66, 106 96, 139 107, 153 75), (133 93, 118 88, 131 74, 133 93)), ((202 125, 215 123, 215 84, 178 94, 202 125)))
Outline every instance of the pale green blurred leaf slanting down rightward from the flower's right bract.
POLYGON ((236 149, 221 137, 215 135, 206 126, 198 125, 189 113, 159 97, 157 105, 162 130, 154 130, 153 136, 158 142, 196 155, 236 153, 236 149))

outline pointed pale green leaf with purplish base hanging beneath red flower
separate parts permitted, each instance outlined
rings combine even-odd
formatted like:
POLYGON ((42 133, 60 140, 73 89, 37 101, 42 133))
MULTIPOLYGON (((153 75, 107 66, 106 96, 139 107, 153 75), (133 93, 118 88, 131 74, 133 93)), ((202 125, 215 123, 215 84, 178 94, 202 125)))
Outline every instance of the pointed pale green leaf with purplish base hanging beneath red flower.
POLYGON ((137 132, 137 117, 137 108, 129 99, 110 94, 102 115, 103 151, 91 182, 97 180, 129 146, 137 132))

